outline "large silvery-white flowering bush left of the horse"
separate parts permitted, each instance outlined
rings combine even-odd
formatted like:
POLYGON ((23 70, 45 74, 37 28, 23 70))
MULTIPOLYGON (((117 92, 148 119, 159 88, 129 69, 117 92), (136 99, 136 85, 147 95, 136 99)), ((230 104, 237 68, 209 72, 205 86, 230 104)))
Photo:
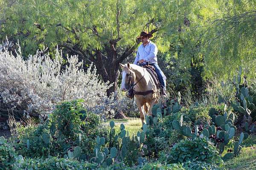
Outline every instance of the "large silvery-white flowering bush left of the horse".
POLYGON ((0 108, 47 114, 58 102, 84 99, 87 110, 105 116, 116 106, 106 94, 111 85, 99 79, 93 65, 84 72, 83 62, 71 56, 61 69, 64 59, 58 48, 54 59, 37 51, 24 60, 20 47, 15 57, 6 48, 10 45, 8 40, 0 45, 0 108))

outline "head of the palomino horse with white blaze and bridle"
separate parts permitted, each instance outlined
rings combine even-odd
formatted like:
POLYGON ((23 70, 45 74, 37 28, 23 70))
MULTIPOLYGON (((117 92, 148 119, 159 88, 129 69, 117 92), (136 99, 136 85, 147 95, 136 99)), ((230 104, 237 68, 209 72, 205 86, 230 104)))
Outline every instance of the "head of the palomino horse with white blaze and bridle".
POLYGON ((131 86, 131 83, 134 82, 136 79, 135 72, 132 71, 131 65, 128 62, 127 64, 123 65, 119 63, 122 68, 122 85, 121 90, 122 91, 128 91, 128 89, 131 86))

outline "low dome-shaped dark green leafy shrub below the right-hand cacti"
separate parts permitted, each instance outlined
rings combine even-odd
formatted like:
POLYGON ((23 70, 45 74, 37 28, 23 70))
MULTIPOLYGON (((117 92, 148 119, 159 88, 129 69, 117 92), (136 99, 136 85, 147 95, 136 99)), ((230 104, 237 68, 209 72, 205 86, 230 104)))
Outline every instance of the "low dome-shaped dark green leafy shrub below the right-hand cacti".
POLYGON ((166 163, 183 163, 186 161, 204 161, 208 163, 220 163, 217 149, 206 138, 197 137, 195 139, 181 140, 175 144, 169 154, 161 155, 161 160, 166 163), (166 158, 165 158, 166 156, 166 158))

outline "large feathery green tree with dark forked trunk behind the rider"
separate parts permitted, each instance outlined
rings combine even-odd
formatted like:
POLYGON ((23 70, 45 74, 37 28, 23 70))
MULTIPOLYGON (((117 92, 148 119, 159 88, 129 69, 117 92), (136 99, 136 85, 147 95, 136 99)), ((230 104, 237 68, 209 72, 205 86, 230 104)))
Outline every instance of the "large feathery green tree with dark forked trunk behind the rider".
POLYGON ((0 38, 19 39, 25 54, 58 45, 93 62, 104 82, 114 83, 109 96, 117 88, 119 63, 140 43, 136 37, 158 31, 163 18, 169 20, 168 6, 154 0, 17 0, 8 7, 0 38))

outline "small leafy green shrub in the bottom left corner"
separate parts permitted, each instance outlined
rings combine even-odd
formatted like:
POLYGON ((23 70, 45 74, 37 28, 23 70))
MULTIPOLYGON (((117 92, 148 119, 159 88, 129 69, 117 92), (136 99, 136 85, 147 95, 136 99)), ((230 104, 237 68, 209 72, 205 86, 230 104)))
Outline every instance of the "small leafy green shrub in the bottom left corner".
POLYGON ((11 144, 6 143, 6 140, 1 136, 0 139, 0 170, 14 169, 17 153, 11 144))

